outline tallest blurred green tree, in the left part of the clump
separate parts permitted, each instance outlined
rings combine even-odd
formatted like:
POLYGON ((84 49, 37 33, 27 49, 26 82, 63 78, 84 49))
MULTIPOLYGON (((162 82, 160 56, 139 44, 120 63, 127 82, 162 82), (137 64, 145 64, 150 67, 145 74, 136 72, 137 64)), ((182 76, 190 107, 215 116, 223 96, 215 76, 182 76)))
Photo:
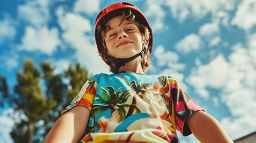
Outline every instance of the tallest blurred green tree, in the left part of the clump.
POLYGON ((23 70, 17 73, 18 83, 14 86, 17 96, 12 101, 15 111, 23 113, 26 119, 17 122, 11 131, 14 142, 33 142, 35 133, 39 131, 36 124, 47 117, 56 104, 52 98, 42 94, 40 78, 40 72, 32 61, 25 59, 23 70))

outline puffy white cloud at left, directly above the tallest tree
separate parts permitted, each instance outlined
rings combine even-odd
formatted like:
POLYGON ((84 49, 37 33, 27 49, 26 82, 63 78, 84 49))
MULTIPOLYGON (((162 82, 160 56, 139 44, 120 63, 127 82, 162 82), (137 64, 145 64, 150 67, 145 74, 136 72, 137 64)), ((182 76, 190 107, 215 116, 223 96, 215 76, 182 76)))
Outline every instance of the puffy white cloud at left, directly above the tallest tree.
POLYGON ((22 43, 18 46, 19 50, 40 51, 51 55, 60 45, 57 28, 48 29, 47 27, 42 27, 41 29, 36 29, 28 26, 25 32, 22 43))

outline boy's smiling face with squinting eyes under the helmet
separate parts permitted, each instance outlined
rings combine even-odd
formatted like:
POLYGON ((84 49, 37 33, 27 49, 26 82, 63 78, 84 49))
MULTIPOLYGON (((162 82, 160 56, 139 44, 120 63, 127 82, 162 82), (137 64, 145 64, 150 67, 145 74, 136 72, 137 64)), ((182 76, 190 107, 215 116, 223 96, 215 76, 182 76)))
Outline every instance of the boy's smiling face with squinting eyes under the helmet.
POLYGON ((132 21, 122 21, 118 16, 107 21, 106 25, 109 26, 105 40, 107 51, 113 58, 129 58, 141 52, 142 36, 132 21))

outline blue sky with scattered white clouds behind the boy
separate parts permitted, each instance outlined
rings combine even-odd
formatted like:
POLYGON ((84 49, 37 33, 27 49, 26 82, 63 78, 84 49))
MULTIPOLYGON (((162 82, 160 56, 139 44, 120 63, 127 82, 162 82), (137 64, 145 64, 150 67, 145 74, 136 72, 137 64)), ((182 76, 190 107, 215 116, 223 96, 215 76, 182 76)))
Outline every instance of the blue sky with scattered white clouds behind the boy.
MULTIPOLYGON (((90 73, 109 73, 98 57, 94 21, 118 1, 2 0, 0 75, 10 88, 23 58, 51 61, 55 73, 79 61, 90 73)), ((153 29, 152 67, 168 74, 223 125, 232 139, 256 130, 256 1, 132 0, 153 29)), ((10 142, 13 120, 0 112, 0 138, 10 142)), ((19 117, 18 117, 19 118, 19 117)), ((197 142, 180 137, 181 142, 197 142)))

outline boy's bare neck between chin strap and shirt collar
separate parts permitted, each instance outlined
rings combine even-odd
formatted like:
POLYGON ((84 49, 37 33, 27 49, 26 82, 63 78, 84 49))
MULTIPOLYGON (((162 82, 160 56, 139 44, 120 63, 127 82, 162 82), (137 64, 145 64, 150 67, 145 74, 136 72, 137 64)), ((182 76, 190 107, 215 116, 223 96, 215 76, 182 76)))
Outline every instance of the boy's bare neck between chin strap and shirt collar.
POLYGON ((130 71, 134 73, 140 73, 140 74, 145 74, 141 63, 140 63, 141 57, 137 57, 132 61, 129 61, 128 63, 125 63, 125 66, 121 66, 119 69, 119 72, 121 71, 130 71))

